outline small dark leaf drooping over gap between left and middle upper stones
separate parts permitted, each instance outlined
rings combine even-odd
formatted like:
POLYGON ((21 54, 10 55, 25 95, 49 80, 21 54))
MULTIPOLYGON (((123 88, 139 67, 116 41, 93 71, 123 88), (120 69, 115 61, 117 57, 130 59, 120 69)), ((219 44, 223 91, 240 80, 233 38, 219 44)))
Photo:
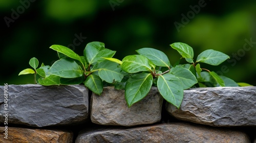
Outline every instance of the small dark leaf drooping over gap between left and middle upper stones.
POLYGON ((84 85, 88 87, 91 91, 95 94, 100 95, 103 91, 103 83, 99 76, 97 75, 90 75, 84 81, 84 85))

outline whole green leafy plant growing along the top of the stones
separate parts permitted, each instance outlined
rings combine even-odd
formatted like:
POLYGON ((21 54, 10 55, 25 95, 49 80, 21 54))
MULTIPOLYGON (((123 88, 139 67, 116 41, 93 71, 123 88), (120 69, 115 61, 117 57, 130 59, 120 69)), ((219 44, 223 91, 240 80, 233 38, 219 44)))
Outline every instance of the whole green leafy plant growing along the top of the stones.
MULTIPOLYGON (((161 51, 144 47, 138 55, 129 55, 121 60, 112 58, 115 51, 105 49, 104 43, 88 43, 79 56, 68 47, 52 45, 59 60, 52 66, 41 64, 32 58, 33 67, 24 69, 19 75, 34 74, 35 82, 41 85, 81 84, 96 94, 101 94, 104 85, 114 85, 125 90, 129 107, 142 100, 152 86, 157 86, 162 97, 177 108, 183 100, 183 90, 190 87, 238 86, 233 80, 218 76, 214 71, 201 68, 200 63, 219 65, 229 58, 215 50, 206 50, 194 62, 194 51, 185 43, 176 42, 170 46, 177 50, 188 64, 172 66, 161 51)), ((181 58, 181 59, 182 59, 181 58)), ((241 83, 242 85, 242 83, 241 83)))

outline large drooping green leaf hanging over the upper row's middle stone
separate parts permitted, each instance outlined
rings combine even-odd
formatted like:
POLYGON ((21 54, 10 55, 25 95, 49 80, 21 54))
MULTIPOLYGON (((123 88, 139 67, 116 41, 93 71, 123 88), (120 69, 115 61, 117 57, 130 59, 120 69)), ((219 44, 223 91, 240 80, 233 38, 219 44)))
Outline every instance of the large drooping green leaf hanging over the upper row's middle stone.
POLYGON ((130 77, 125 85, 125 99, 128 107, 142 100, 150 91, 153 83, 151 74, 141 73, 130 77))

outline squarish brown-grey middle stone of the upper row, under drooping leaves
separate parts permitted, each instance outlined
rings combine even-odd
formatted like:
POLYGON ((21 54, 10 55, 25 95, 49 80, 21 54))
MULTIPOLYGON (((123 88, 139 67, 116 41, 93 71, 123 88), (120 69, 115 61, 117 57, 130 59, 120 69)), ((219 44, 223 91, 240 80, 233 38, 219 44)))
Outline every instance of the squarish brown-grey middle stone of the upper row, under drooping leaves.
POLYGON ((104 87, 101 96, 93 93, 91 120, 100 125, 134 126, 152 124, 161 120, 163 98, 156 87, 130 108, 127 107, 124 90, 104 87))

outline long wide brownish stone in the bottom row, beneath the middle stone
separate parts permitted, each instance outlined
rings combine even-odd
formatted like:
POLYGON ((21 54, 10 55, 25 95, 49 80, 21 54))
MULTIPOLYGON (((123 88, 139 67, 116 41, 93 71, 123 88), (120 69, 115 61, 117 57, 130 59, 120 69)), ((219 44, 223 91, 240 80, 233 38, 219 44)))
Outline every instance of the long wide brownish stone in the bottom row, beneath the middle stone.
POLYGON ((250 142, 247 134, 216 127, 184 123, 160 124, 131 129, 82 131, 76 143, 86 142, 250 142))

